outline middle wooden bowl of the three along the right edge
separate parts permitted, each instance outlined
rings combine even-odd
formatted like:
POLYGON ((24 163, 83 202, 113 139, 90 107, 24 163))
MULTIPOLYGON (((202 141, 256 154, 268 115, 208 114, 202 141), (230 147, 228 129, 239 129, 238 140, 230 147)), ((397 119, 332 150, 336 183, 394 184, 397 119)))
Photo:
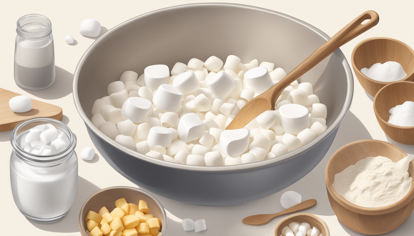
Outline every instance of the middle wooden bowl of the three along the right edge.
POLYGON ((414 144, 414 126, 397 126, 388 123, 390 108, 405 101, 414 101, 414 82, 390 83, 378 91, 374 98, 374 112, 381 129, 398 143, 414 144))

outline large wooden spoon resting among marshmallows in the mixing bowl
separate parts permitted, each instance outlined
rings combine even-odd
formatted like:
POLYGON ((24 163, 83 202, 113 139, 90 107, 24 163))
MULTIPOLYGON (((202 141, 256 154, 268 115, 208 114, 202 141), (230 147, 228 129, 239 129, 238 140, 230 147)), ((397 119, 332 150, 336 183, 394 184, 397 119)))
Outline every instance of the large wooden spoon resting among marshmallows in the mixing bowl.
POLYGON ((332 52, 337 50, 351 39, 359 36, 361 33, 371 29, 378 24, 379 16, 374 11, 366 11, 359 17, 342 28, 330 40, 326 41, 312 54, 310 54, 303 62, 298 64, 284 79, 276 83, 264 93, 250 100, 238 112, 233 121, 226 127, 226 129, 240 129, 255 119, 258 115, 267 110, 274 110, 274 103, 279 98, 282 91, 300 76, 308 72, 311 68, 317 65, 320 61, 329 56, 332 52), (362 21, 369 19, 365 24, 362 21))

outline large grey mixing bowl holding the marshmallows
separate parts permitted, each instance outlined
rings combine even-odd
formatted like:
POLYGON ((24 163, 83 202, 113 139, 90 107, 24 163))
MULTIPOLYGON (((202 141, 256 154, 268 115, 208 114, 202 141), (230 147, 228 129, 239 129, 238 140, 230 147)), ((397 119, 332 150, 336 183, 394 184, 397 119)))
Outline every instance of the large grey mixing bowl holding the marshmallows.
MULTIPOLYGON (((340 27, 338 27, 339 29, 340 27)), ((89 135, 105 160, 125 178, 156 194, 198 205, 232 205, 286 188, 323 158, 349 110, 351 69, 340 50, 305 74, 301 81, 327 106, 328 129, 310 143, 277 158, 222 167, 176 164, 147 157, 116 143, 90 121, 94 101, 125 70, 143 73, 152 64, 225 60, 238 55, 293 69, 327 41, 315 27, 294 17, 235 4, 190 4, 140 15, 114 27, 86 51, 75 71, 73 96, 89 135)))

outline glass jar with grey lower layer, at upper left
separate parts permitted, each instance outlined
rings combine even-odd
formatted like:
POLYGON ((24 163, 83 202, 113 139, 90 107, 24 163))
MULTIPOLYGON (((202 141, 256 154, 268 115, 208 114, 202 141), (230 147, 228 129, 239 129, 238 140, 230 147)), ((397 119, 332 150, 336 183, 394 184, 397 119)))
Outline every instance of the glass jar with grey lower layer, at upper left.
POLYGON ((29 14, 17 21, 14 81, 23 88, 41 89, 55 81, 55 51, 51 21, 29 14))

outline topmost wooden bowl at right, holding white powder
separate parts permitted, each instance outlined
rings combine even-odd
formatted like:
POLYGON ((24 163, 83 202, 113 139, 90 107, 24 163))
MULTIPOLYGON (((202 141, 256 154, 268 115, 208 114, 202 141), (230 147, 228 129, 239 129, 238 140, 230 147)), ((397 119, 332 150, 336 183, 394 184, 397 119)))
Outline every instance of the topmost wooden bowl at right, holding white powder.
POLYGON ((414 50, 409 45, 393 38, 368 38, 358 43, 352 51, 351 62, 356 78, 371 96, 392 82, 381 82, 368 78, 361 69, 375 63, 394 61, 401 64, 407 76, 400 81, 414 81, 414 50))

